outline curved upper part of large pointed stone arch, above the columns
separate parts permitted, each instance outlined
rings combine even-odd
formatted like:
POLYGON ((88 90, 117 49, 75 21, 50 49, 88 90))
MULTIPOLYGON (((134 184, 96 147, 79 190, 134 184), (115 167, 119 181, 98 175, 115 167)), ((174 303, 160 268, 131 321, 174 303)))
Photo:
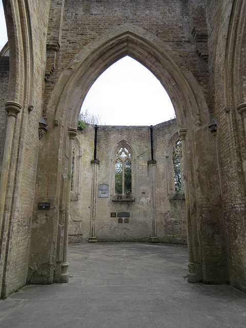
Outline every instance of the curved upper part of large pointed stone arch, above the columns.
POLYGON ((185 61, 157 37, 127 24, 94 40, 60 74, 48 105, 55 112, 56 124, 64 125, 69 119, 69 125, 76 126, 81 104, 94 81, 126 55, 160 80, 172 100, 179 127, 186 126, 187 120, 194 125, 209 121, 204 95, 185 61))

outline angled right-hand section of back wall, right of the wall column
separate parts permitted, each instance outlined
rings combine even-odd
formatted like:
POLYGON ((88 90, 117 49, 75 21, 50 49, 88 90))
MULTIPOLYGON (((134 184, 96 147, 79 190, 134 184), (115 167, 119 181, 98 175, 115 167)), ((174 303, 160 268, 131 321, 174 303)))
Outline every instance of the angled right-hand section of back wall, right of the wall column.
POLYGON ((175 192, 174 188, 172 152, 179 139, 176 119, 153 128, 158 239, 168 243, 187 243, 185 195, 175 192))

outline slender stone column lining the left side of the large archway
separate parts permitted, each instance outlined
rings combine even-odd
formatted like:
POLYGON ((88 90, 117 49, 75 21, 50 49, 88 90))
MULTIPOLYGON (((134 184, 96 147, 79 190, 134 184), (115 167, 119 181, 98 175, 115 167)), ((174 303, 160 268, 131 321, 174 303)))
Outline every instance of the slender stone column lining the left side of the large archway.
POLYGON ((64 245, 63 245, 63 263, 61 264, 60 282, 68 282, 68 224, 70 212, 70 196, 71 196, 71 171, 73 158, 73 140, 77 135, 77 130, 74 128, 68 129, 69 134, 69 157, 68 157, 68 173, 67 173, 67 190, 66 190, 66 208, 64 222, 64 245))

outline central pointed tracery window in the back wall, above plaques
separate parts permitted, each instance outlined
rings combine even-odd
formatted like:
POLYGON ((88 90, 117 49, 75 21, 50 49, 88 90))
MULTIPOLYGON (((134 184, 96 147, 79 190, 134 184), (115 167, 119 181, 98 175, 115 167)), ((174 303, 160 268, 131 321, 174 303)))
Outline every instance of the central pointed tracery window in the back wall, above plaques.
POLYGON ((115 194, 132 193, 132 155, 126 146, 120 146, 115 155, 115 194))

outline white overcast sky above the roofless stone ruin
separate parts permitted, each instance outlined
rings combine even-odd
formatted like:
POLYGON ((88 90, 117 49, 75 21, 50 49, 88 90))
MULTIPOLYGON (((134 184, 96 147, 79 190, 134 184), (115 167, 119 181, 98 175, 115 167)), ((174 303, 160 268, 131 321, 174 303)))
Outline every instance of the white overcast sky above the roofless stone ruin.
MULTIPOLYGON (((0 1, 0 49, 7 42, 0 1)), ((171 100, 159 80, 138 61, 124 57, 101 74, 82 111, 99 114, 107 125, 155 125, 174 117, 171 100)))

